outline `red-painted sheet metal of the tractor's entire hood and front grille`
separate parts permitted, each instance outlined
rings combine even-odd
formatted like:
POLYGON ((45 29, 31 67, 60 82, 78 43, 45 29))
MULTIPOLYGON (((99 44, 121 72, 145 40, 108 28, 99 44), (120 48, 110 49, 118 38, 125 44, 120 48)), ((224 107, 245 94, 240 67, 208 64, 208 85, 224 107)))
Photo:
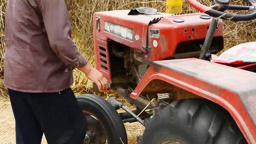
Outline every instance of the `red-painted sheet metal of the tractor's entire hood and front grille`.
MULTIPOLYGON (((94 14, 94 48, 96 57, 96 68, 100 70, 107 77, 108 82, 112 83, 111 71, 106 72, 103 68, 100 68, 100 56, 99 45, 108 50, 108 40, 114 40, 120 44, 131 47, 132 49, 142 52, 145 56, 143 59, 153 62, 155 60, 164 60, 172 57, 175 54, 177 45, 181 42, 190 40, 204 39, 208 31, 207 27, 211 23, 211 19, 203 20, 200 18, 204 13, 187 14, 172 16, 170 14, 161 13, 163 17, 157 24, 149 25, 150 21, 154 20, 156 16, 128 16, 128 10, 110 11, 110 12, 96 12, 94 14), (96 18, 100 18, 100 31, 96 30, 96 18), (173 20, 175 18, 184 19, 183 23, 176 23, 173 20), (134 30, 133 42, 115 36, 112 33, 104 31, 104 22, 110 22, 118 24, 126 28, 134 30), (194 28, 194 31, 192 29, 194 28), (160 31, 159 38, 150 38, 149 30, 157 29, 160 31), (187 32, 184 32, 187 30, 187 32), (135 36, 139 36, 140 39, 136 40, 135 36), (153 41, 156 40, 158 46, 154 48, 153 41), (146 51, 145 48, 151 48, 151 51, 146 51)), ((220 21, 219 28, 216 29, 214 36, 223 37, 223 25, 220 21)), ((109 58, 107 59, 107 61, 109 58)), ((110 62, 108 61, 108 64, 110 62)), ((109 66, 109 65, 108 65, 109 66)), ((111 68, 108 67, 110 70, 111 68)))

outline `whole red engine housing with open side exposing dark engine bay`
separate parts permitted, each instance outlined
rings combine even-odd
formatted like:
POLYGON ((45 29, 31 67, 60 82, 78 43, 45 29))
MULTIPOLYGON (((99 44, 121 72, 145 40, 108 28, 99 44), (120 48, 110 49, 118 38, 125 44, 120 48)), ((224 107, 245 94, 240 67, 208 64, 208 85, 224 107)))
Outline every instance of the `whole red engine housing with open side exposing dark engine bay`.
MULTIPOLYGON (((199 57, 212 17, 204 13, 128 15, 129 10, 94 14, 96 68, 112 88, 135 88, 153 61, 199 57)), ((224 48, 219 21, 210 52, 224 48)))

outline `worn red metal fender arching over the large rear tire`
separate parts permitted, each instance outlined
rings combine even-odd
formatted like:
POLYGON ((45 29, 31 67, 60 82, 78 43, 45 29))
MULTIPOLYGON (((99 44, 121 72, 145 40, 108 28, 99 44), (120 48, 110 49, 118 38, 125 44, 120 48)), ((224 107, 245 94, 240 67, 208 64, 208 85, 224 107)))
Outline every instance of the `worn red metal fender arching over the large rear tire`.
POLYGON ((136 99, 156 79, 221 105, 232 115, 248 143, 256 143, 256 73, 195 58, 156 61, 131 97, 136 99))

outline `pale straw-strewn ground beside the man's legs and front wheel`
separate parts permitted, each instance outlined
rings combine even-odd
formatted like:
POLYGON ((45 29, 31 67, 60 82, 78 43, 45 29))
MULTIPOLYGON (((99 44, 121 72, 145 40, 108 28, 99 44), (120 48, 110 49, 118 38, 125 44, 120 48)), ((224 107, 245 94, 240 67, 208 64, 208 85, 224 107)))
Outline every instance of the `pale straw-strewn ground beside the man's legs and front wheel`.
MULTIPOLYGON (((137 144, 137 136, 144 131, 143 126, 138 123, 125 124, 128 144, 137 144)), ((0 101, 0 144, 15 144, 15 120, 9 101, 0 101)), ((43 137, 42 144, 47 144, 43 137)))

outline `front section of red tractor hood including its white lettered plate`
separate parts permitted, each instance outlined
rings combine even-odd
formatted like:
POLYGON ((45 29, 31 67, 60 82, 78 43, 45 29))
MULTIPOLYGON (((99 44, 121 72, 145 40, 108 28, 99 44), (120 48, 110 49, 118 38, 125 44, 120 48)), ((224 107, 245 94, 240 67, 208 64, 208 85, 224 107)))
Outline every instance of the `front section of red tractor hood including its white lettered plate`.
MULTIPOLYGON (((100 40, 115 40, 120 44, 146 52, 148 26, 172 14, 158 12, 157 15, 128 15, 130 11, 96 12, 94 19, 100 21, 100 30, 94 30, 95 36, 100 40)), ((96 28, 96 24, 94 25, 96 28)))

